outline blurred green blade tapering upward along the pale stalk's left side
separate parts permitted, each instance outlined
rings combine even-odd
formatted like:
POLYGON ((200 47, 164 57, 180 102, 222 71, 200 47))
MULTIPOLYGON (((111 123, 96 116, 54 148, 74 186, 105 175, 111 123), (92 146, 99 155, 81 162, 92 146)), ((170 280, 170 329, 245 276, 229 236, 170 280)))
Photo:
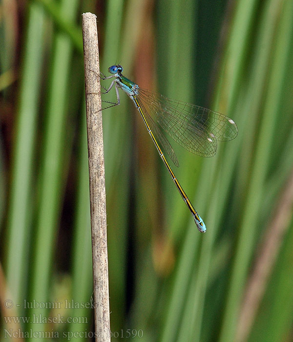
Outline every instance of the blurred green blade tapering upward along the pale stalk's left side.
MULTIPOLYGON (((83 305, 83 303, 90 302, 93 291, 85 108, 82 115, 83 125, 80 134, 79 180, 72 250, 72 299, 76 303, 77 308, 74 308, 70 315, 71 317, 86 318, 89 323, 92 309, 83 305)), ((72 334, 72 336, 77 336, 72 341, 86 341, 87 339, 83 337, 83 332, 88 327, 89 324, 72 322, 68 327, 68 337, 72 334)))

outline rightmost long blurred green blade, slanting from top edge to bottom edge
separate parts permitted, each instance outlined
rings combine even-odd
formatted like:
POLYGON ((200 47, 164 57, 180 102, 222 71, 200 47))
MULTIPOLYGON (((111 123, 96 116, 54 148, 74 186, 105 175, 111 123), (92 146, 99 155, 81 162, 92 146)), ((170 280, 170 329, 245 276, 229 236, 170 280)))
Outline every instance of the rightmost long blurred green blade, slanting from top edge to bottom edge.
MULTIPOLYGON (((277 24, 281 5, 281 1, 270 1, 266 4, 260 26, 261 30, 259 41, 262 42, 262 50, 264 50, 265 43, 269 44, 267 45, 268 49, 272 46, 272 39, 274 38, 274 30, 277 24), (269 34, 269 32, 271 34, 269 34)), ((261 54, 263 54, 263 52, 264 51, 261 51, 261 54)), ((277 56, 273 55, 273 61, 274 57, 277 56)), ((264 59, 260 60, 260 63, 268 65, 264 63, 264 59)), ((278 88, 275 87, 275 85, 279 87, 279 83, 277 83, 273 77, 277 77, 279 79, 279 77, 283 76, 282 73, 280 74, 278 72, 279 70, 274 68, 276 68, 276 64, 272 64, 272 74, 271 79, 269 80, 267 102, 263 110, 265 115, 262 119, 258 134, 258 142, 255 149, 254 165, 246 205, 243 212, 237 250, 232 267, 230 288, 220 341, 233 340, 237 313, 241 304, 242 292, 244 289, 245 278, 247 276, 251 252, 253 250, 255 234, 258 231, 258 213, 261 199, 264 195, 262 189, 270 159, 270 149, 268 146, 272 144, 274 139, 274 123, 277 120, 277 106, 280 102, 280 93, 278 92, 278 88)), ((260 77, 262 77, 264 82, 266 82, 265 74, 260 75, 260 77)), ((253 85, 253 87, 253 90, 255 91, 255 85, 253 85)))

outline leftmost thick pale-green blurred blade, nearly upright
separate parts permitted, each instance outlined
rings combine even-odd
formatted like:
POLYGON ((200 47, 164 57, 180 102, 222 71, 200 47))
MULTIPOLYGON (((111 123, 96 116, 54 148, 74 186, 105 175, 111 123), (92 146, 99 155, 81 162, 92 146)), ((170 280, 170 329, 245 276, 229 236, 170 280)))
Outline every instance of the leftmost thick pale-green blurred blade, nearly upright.
MULTIPOLYGON (((44 15, 42 8, 28 9, 27 33, 21 71, 20 100, 14 146, 12 184, 7 220, 7 283, 16 303, 25 298, 27 256, 33 216, 34 144, 39 106, 43 56, 44 15)), ((23 306, 21 305, 21 314, 23 306)))

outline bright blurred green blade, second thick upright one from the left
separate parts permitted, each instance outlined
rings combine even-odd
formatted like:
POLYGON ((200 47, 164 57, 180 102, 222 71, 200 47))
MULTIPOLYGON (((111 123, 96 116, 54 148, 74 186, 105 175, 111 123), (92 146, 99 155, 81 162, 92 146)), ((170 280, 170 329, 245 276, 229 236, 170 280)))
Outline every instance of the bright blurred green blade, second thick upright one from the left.
MULTIPOLYGON (((73 19, 78 0, 63 0, 62 13, 73 19)), ((43 153, 40 170, 40 204, 37 217, 36 243, 34 246, 34 263, 31 280, 31 299, 38 302, 49 299, 48 290, 54 253, 56 228, 58 227, 61 199, 63 196, 63 169, 70 149, 70 138, 65 137, 66 94, 69 67, 72 57, 72 45, 63 33, 55 37, 54 57, 48 93, 48 111, 45 123, 43 153), (67 139, 66 139, 67 138, 67 139)), ((69 132, 70 134, 70 132, 69 132)), ((45 316, 46 310, 37 308, 35 315, 45 316)), ((43 323, 29 324, 32 331, 45 331, 43 323)))

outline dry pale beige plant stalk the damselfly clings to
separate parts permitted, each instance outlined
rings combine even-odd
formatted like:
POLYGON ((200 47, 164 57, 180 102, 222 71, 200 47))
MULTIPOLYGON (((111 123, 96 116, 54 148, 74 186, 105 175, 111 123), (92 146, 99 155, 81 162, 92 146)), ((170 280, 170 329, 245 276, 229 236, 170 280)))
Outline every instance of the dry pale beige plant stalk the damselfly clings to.
POLYGON ((105 167, 96 16, 83 15, 84 79, 89 165, 96 341, 110 341, 105 167))

